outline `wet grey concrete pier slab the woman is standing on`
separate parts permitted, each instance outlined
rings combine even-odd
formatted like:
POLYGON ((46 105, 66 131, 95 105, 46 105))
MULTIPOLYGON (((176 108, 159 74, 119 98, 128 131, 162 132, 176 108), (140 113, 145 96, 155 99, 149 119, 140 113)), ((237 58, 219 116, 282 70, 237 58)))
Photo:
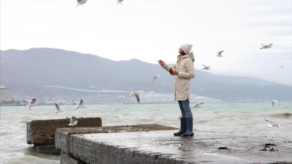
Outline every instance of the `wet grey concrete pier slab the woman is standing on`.
POLYGON ((73 134, 67 146, 56 138, 56 147, 67 152, 61 164, 69 164, 66 158, 79 162, 74 164, 292 164, 291 141, 205 131, 173 136, 176 131, 73 134))

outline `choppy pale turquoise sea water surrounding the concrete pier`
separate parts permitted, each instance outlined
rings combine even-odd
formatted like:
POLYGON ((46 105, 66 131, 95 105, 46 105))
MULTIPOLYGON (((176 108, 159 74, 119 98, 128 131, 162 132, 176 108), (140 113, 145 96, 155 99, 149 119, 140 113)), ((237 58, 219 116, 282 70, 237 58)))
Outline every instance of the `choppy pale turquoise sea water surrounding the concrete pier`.
MULTIPOLYGON (((193 105, 193 104, 191 104, 193 105)), ((1 164, 59 164, 59 156, 35 154, 26 143, 28 120, 65 119, 66 117, 101 117, 103 126, 157 123, 179 127, 179 105, 117 104, 86 105, 74 109, 63 105, 64 111, 55 115, 55 106, 0 107, 1 164)), ((292 103, 204 103, 193 109, 194 129, 233 135, 271 136, 292 141, 292 103), (264 118, 280 123, 269 128, 264 118)), ((169 134, 172 135, 172 134, 169 134)))

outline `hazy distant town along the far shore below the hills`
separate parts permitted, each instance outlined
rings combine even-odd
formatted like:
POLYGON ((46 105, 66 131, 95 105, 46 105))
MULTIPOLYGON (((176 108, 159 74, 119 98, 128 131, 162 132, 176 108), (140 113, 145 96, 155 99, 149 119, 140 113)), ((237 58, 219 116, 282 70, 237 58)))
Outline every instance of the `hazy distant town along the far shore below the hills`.
MULTIPOLYGON (((115 94, 93 94, 93 93, 80 93, 76 92, 76 95, 58 95, 58 96, 46 96, 45 93, 33 97, 32 95, 23 95, 19 93, 12 93, 9 87, 0 85, 0 100, 1 106, 24 106, 25 102, 22 100, 37 99, 37 103, 41 105, 50 105, 54 103, 63 105, 72 105, 84 100, 85 104, 135 104, 138 103, 135 96, 131 96, 130 93, 115 93, 115 94)), ((143 92, 140 95, 140 103, 176 103, 173 100, 173 93, 155 93, 153 91, 143 92)), ((191 103, 201 102, 228 102, 220 99, 199 96, 191 94, 191 103)), ((240 99, 233 102, 264 102, 262 100, 255 99, 240 99)))

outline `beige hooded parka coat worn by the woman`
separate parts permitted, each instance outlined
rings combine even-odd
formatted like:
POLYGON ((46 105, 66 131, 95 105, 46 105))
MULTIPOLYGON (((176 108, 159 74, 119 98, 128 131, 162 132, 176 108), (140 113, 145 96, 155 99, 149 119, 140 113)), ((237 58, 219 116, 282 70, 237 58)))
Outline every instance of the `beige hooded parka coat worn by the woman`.
MULTIPOLYGON (((195 77, 194 61, 194 54, 191 52, 186 55, 178 55, 177 63, 172 66, 179 73, 174 76, 174 100, 188 99, 190 101, 190 82, 195 77)), ((171 67, 164 63, 162 68, 168 71, 171 67)))

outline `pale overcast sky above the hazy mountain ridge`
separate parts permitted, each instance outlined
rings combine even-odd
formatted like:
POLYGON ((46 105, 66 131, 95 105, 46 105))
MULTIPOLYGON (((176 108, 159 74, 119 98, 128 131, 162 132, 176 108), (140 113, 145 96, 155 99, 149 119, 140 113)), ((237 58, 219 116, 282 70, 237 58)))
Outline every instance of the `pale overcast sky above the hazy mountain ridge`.
POLYGON ((0 49, 61 48, 112 60, 177 61, 292 85, 292 0, 1 0, 0 49), (272 42, 273 48, 259 49, 272 42), (224 57, 216 57, 225 50, 224 57), (219 62, 216 62, 219 60, 219 62), (281 66, 284 68, 281 69, 281 66))

